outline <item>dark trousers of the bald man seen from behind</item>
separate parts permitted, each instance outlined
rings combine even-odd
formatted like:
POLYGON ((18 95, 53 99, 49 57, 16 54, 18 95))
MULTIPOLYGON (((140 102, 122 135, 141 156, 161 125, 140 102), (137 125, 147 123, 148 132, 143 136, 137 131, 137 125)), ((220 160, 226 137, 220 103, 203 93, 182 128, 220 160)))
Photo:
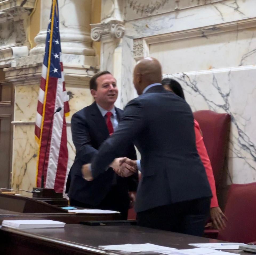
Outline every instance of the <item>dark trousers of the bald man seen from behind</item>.
POLYGON ((202 236, 210 212, 210 198, 183 201, 137 213, 138 225, 202 236))

